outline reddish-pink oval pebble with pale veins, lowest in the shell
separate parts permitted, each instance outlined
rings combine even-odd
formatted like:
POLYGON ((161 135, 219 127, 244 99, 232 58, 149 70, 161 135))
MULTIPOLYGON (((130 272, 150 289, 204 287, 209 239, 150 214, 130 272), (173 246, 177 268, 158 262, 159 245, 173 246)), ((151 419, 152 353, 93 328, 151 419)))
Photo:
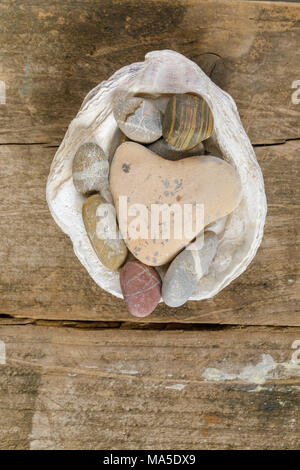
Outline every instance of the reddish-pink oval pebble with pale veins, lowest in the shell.
POLYGON ((120 285, 126 306, 135 317, 146 317, 160 301, 160 276, 140 261, 128 261, 121 268, 120 285))

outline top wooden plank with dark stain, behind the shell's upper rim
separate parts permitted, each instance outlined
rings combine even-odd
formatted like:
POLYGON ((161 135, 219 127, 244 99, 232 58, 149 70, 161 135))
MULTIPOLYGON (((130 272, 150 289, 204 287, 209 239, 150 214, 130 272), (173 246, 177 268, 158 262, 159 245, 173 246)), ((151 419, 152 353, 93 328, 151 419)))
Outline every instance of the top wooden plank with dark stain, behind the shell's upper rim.
POLYGON ((1 2, 0 17, 2 143, 60 143, 91 88, 164 48, 233 95, 253 143, 299 138, 299 4, 16 0, 1 2))

